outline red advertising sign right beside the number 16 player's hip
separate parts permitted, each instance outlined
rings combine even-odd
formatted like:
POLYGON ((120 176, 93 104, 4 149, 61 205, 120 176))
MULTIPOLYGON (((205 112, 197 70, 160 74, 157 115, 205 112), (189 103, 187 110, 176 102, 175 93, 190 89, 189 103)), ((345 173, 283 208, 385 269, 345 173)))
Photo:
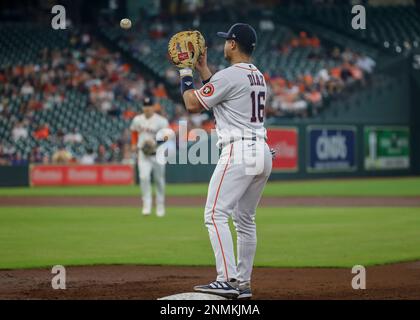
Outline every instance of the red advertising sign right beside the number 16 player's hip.
POLYGON ((267 143, 276 150, 273 171, 295 172, 298 170, 297 128, 269 128, 267 143))

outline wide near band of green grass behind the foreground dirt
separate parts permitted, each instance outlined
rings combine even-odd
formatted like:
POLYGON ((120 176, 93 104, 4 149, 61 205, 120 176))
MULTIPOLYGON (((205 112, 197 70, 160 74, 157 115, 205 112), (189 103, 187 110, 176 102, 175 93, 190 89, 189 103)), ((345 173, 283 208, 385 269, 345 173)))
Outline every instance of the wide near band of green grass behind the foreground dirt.
MULTIPOLYGON (((260 208, 257 266, 350 267, 420 259, 419 208, 260 208)), ((213 265, 202 208, 0 207, 0 268, 213 265)))

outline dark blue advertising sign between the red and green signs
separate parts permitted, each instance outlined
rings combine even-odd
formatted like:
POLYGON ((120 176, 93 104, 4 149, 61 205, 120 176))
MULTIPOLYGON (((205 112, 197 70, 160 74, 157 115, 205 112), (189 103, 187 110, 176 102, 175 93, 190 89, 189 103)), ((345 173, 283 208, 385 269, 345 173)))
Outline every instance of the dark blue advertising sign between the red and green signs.
POLYGON ((308 126, 307 171, 356 170, 356 127, 308 126))

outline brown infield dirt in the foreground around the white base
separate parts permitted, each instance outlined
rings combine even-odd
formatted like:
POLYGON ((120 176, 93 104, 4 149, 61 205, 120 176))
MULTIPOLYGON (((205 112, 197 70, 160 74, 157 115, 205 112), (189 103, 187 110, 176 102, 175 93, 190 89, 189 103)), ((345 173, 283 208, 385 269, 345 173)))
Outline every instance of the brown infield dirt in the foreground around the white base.
MULTIPOLYGON (((420 261, 366 269, 354 290, 350 269, 256 268, 254 299, 420 299, 420 261)), ((213 267, 66 268, 66 290, 53 290, 50 269, 1 270, 0 299, 157 299, 212 281, 213 267)))

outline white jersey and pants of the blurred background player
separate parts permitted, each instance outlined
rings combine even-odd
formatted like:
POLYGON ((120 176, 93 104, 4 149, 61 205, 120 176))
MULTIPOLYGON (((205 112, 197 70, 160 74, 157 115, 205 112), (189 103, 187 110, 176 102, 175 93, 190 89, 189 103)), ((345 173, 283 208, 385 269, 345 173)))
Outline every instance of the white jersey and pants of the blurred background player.
POLYGON ((138 132, 138 168, 140 187, 143 194, 143 212, 150 213, 152 210, 152 189, 150 175, 156 183, 156 208, 157 214, 165 212, 165 165, 158 163, 156 155, 147 156, 141 150, 147 140, 156 142, 156 134, 159 130, 168 128, 168 120, 154 113, 149 119, 144 114, 134 117, 130 130, 138 132))

